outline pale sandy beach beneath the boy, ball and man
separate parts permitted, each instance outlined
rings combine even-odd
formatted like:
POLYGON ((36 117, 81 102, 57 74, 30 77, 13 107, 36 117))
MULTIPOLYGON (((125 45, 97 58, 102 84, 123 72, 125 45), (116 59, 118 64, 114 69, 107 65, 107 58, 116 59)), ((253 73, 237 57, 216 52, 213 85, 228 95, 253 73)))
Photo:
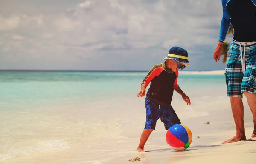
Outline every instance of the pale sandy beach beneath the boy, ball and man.
MULTIPOLYGON (((253 132, 253 118, 245 104, 245 127, 247 139, 253 132)), ((166 143, 163 124, 157 122, 155 130, 145 145, 143 153, 136 152, 143 127, 126 129, 133 136, 101 141, 88 147, 88 142, 73 144, 70 149, 1 161, 3 164, 128 164, 139 157, 138 164, 255 164, 256 141, 240 141, 221 144, 235 134, 230 109, 208 111, 209 115, 182 120, 193 134, 192 145, 183 152, 176 152, 166 143), (210 124, 204 124, 209 121, 210 124), (200 136, 200 138, 197 138, 200 136), (84 158, 86 156, 86 158, 84 158)), ((132 126, 132 123, 131 123, 132 126)))

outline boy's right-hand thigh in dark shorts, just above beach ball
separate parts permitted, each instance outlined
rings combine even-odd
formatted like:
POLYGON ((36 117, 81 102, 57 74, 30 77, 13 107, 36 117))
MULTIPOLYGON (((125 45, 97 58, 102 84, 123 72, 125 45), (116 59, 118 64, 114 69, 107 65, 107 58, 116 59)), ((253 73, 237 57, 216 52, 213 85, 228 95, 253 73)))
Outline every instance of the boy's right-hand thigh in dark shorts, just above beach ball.
POLYGON ((160 111, 162 112, 161 121, 166 130, 172 127, 172 125, 181 123, 179 117, 172 108, 172 105, 169 105, 168 107, 160 106, 160 111))

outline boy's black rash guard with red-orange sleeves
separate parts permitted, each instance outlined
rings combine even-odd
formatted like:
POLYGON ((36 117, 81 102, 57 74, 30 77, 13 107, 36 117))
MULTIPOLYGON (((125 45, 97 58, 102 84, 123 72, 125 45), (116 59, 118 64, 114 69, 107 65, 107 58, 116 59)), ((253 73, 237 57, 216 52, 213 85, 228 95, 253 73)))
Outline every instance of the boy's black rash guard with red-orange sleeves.
POLYGON ((162 106, 169 106, 172 102, 173 90, 179 87, 177 83, 178 71, 175 73, 166 67, 165 62, 154 65, 141 84, 150 84, 146 96, 151 101, 162 106))

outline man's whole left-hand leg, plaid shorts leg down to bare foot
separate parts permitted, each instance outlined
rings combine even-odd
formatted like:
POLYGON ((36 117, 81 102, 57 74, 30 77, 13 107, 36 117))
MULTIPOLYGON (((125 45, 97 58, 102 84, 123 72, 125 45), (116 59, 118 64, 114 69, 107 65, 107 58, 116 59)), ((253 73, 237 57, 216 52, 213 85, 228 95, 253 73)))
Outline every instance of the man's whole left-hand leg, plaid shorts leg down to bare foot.
POLYGON ((244 106, 242 102, 242 79, 244 77, 241 66, 240 45, 232 42, 227 52, 227 63, 225 68, 225 79, 227 84, 227 96, 233 118, 236 124, 236 135, 223 143, 237 142, 246 139, 244 130, 244 106))

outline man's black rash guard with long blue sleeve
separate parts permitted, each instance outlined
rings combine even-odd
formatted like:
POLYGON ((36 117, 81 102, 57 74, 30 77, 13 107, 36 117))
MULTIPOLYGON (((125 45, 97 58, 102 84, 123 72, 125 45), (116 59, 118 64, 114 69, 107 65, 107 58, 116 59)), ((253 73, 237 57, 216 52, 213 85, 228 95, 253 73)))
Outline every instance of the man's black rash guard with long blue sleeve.
POLYGON ((256 0, 222 0, 222 8, 219 41, 225 41, 232 23, 234 41, 256 42, 256 0))

